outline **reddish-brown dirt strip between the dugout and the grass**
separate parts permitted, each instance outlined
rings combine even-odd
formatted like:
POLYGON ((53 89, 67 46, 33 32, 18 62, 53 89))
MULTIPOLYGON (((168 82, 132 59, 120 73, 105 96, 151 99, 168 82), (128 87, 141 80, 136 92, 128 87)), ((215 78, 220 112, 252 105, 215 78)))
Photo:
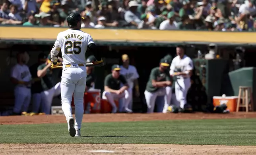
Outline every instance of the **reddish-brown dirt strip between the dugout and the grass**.
MULTIPOLYGON (((83 122, 115 122, 115 121, 149 121, 149 120, 179 120, 179 119, 230 119, 256 118, 255 112, 245 113, 115 113, 115 114, 85 114, 83 122)), ((66 123, 64 115, 37 116, 1 116, 0 124, 41 124, 66 123)))

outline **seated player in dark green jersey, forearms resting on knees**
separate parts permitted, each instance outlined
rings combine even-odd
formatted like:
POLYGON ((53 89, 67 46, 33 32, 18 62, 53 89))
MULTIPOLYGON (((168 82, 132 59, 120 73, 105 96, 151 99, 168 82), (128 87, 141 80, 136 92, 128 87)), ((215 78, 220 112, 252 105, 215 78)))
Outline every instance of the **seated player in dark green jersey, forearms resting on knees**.
MULTIPOLYGON (((108 100, 112 106, 112 113, 117 112, 117 107, 114 100, 129 98, 127 89, 129 88, 128 83, 124 76, 120 75, 120 66, 114 64, 112 66, 112 73, 105 77, 104 89, 102 98, 108 100), (123 87, 120 88, 120 83, 123 83, 123 87)), ((128 108, 128 103, 124 103, 124 108, 128 108)))

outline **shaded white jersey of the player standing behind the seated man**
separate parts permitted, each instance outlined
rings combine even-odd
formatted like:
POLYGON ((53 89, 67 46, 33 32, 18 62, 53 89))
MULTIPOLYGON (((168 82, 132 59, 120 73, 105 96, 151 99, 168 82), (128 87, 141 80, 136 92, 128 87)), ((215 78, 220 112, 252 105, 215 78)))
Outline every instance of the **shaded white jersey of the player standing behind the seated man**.
POLYGON ((123 75, 129 85, 129 89, 133 89, 134 86, 134 80, 138 79, 140 76, 137 72, 137 69, 135 66, 129 65, 128 68, 125 68, 124 66, 120 66, 120 74, 123 75))

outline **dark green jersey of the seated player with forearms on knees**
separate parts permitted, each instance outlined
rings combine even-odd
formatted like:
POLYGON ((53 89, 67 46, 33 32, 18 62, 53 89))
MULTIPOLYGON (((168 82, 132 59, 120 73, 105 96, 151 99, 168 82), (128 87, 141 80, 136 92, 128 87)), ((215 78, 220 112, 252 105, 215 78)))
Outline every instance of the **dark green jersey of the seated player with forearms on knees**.
POLYGON ((120 82, 124 85, 127 83, 124 76, 120 75, 117 79, 115 79, 112 74, 109 74, 105 77, 104 85, 108 86, 110 89, 119 90, 120 82))

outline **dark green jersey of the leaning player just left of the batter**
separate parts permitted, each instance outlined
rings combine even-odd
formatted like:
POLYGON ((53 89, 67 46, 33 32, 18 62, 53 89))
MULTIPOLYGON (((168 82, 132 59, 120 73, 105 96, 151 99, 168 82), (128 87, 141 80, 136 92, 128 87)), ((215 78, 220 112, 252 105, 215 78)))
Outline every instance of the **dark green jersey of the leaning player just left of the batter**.
MULTIPOLYGON (((41 64, 38 66, 37 70, 43 70, 47 66, 46 64, 41 64)), ((43 90, 46 91, 48 89, 51 89, 54 87, 58 82, 59 72, 56 70, 56 72, 52 71, 50 68, 47 69, 47 72, 44 77, 41 78, 41 85, 43 87, 43 90)))

